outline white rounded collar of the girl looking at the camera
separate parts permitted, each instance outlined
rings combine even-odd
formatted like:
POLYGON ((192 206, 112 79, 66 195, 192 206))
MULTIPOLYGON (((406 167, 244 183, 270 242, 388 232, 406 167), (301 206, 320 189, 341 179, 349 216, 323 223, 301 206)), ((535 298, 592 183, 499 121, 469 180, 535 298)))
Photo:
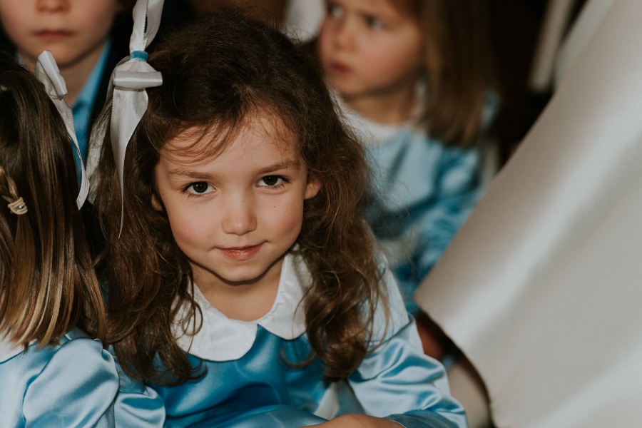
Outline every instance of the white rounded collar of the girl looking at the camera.
MULTIPOLYGON (((194 300, 203 314, 203 324, 195 335, 191 334, 193 326, 198 327, 200 324, 197 312, 196 322, 191 320, 185 329, 181 325, 175 325, 176 342, 182 350, 203 360, 231 361, 243 357, 254 345, 258 325, 282 339, 296 339, 305 332, 305 315, 300 302, 310 283, 310 272, 302 258, 285 255, 272 309, 255 321, 226 317, 205 299, 198 287, 194 287, 194 300)), ((188 305, 184 304, 176 320, 185 319, 187 311, 188 305)))

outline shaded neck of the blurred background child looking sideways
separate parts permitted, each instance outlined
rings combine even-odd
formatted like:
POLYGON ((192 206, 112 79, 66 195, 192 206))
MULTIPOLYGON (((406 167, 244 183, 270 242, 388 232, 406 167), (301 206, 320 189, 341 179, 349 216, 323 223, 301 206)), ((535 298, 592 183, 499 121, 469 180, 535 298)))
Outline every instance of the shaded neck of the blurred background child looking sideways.
POLYGON ((344 96, 343 100, 361 116, 382 125, 400 125, 412 118, 417 102, 414 82, 386 91, 373 91, 357 96, 344 96))

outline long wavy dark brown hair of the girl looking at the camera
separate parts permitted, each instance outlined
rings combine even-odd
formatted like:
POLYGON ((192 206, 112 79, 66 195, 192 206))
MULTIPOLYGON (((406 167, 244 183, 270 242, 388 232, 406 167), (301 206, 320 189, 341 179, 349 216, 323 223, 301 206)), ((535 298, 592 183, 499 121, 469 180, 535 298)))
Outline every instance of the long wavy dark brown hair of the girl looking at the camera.
MULTIPOLYGON (((312 275, 302 305, 313 352, 297 364, 320 357, 327 379, 347 377, 371 348, 375 306, 388 312, 374 240, 360 215, 368 174, 362 147, 337 116, 319 67, 247 13, 228 9, 205 16, 175 31, 149 57, 163 73, 163 85, 148 89, 148 111, 127 149, 120 238, 121 190, 108 108, 101 119, 107 133, 100 142, 96 204, 107 243, 99 265, 110 285, 108 341, 133 378, 175 384, 195 372, 172 330, 180 305, 190 305, 191 317, 199 308, 191 297, 188 258, 173 240, 166 213, 153 208, 159 153, 188 128, 231 136, 261 109, 282 119, 308 173, 322 183, 305 201, 295 245, 312 275)), ((224 142, 214 144, 210 154, 224 149, 224 142)))

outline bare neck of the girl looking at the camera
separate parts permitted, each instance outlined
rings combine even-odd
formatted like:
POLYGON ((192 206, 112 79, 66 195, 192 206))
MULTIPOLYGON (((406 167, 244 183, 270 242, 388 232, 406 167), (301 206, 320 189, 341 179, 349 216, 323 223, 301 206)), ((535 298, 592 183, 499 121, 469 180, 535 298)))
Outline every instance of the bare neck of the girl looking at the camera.
POLYGON ((192 264, 195 285, 210 305, 228 318, 255 321, 270 312, 279 290, 285 255, 258 278, 230 282, 210 270, 192 264))

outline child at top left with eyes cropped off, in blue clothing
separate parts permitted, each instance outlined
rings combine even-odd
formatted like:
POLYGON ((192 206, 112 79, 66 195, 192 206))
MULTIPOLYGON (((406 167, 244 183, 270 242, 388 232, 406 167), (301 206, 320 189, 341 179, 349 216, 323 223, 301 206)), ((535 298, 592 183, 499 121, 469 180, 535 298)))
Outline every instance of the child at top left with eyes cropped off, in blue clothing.
MULTIPOLYGON (((108 78, 127 55, 128 34, 115 26, 131 11, 131 0, 0 0, 0 22, 10 53, 34 71, 36 56, 51 51, 67 83, 83 163, 91 122, 106 98, 108 78), (112 32, 112 29, 118 30, 112 32), (113 40, 116 39, 116 40, 113 40), (124 42, 124 46, 123 46, 124 42)), ((126 20, 125 20, 126 21, 126 20)), ((131 21, 131 19, 130 19, 131 21)), ((126 24, 126 23, 125 23, 126 24)), ((78 172, 81 165, 76 161, 78 172)))

